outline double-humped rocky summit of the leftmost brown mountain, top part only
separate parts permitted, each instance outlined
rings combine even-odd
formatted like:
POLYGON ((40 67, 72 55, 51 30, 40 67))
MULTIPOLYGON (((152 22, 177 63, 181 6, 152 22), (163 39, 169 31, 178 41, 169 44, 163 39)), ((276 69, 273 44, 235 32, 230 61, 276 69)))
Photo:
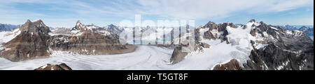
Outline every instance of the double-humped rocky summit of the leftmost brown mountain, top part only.
POLYGON ((29 19, 25 24, 23 24, 20 28, 20 31, 26 31, 27 33, 34 33, 34 34, 48 34, 50 29, 48 26, 43 24, 41 19, 37 19, 34 22, 31 22, 29 19))

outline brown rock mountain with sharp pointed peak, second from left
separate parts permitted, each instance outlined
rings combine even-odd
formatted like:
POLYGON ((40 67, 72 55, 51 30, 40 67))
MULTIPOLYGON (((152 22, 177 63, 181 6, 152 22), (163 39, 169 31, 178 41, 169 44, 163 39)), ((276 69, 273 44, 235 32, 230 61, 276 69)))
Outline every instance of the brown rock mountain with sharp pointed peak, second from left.
POLYGON ((54 35, 50 48, 55 51, 71 51, 83 54, 118 54, 129 53, 137 47, 122 45, 118 35, 98 26, 84 26, 77 22, 70 35, 54 35))

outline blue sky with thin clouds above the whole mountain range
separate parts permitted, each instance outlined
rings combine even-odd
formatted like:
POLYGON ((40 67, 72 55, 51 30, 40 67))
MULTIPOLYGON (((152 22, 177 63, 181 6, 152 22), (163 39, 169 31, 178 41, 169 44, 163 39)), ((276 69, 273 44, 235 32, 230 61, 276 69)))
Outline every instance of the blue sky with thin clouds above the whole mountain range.
POLYGON ((42 19, 52 27, 106 26, 122 20, 195 20, 245 24, 250 19, 273 25, 314 25, 313 0, 0 0, 0 23, 42 19))

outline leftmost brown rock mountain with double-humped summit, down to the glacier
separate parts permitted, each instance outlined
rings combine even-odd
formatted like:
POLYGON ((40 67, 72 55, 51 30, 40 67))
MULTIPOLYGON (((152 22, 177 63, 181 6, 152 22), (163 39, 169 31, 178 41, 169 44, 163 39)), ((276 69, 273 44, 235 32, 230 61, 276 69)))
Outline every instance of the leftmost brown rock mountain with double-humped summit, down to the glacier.
POLYGON ((27 20, 20 31, 20 35, 3 44, 6 50, 0 51, 1 58, 16 62, 50 56, 48 51, 50 30, 41 20, 36 22, 27 20))

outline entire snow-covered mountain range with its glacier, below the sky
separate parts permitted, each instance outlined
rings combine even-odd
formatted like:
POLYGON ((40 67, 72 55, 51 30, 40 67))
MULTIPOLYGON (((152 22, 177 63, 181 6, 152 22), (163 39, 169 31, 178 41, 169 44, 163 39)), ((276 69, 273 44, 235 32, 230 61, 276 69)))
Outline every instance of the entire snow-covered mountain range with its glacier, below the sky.
POLYGON ((71 69, 314 69, 314 41, 304 33, 308 28, 290 31, 252 19, 237 25, 209 22, 187 30, 195 34, 183 32, 176 37, 176 28, 145 27, 140 28, 148 32, 138 39, 141 44, 165 38, 171 38, 165 42, 172 43, 120 44, 119 34, 132 33, 132 29, 84 25, 80 21, 71 29, 50 29, 41 20, 28 20, 11 32, 0 32, 0 69, 36 69, 61 63, 71 69), (159 29, 171 37, 157 35, 159 29), (195 40, 193 51, 182 51, 190 44, 174 44, 191 35, 195 40))

